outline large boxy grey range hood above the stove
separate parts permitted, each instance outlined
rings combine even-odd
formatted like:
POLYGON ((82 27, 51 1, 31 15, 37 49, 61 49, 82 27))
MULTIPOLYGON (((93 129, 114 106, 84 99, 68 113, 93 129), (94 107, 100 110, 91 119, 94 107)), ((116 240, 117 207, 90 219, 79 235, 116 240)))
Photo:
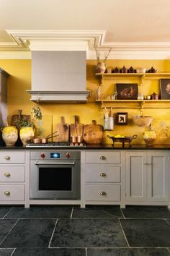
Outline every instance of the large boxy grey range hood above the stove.
POLYGON ((86 103, 86 51, 32 51, 31 101, 86 103))

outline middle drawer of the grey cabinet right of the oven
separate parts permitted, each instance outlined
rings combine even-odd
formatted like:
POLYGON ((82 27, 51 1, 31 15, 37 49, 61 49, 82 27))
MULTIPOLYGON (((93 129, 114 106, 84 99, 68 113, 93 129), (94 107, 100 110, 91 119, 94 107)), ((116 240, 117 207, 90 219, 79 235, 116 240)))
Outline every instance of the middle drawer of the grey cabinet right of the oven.
POLYGON ((86 182, 120 182, 120 166, 88 165, 86 182))

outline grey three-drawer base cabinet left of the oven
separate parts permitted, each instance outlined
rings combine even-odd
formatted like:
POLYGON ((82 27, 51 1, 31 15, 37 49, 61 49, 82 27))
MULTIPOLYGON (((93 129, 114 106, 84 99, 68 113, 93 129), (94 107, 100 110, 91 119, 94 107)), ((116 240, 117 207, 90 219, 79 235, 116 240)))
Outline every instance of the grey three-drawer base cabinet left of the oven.
POLYGON ((26 152, 0 152, 0 204, 25 204, 26 152))

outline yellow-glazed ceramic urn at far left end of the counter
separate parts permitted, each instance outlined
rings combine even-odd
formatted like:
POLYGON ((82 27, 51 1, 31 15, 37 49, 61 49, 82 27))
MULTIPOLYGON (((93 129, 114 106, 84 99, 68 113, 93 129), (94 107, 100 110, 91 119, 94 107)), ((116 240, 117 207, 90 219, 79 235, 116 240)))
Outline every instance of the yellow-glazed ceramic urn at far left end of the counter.
POLYGON ((4 127, 1 128, 2 139, 4 140, 6 146, 12 146, 17 142, 18 130, 16 127, 4 127))

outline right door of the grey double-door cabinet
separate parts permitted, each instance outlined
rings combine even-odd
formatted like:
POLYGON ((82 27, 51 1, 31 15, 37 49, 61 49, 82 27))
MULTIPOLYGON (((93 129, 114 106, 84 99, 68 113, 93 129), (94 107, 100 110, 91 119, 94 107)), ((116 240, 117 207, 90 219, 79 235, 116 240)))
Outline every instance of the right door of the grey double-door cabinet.
POLYGON ((169 201, 169 153, 148 152, 148 201, 169 201))

